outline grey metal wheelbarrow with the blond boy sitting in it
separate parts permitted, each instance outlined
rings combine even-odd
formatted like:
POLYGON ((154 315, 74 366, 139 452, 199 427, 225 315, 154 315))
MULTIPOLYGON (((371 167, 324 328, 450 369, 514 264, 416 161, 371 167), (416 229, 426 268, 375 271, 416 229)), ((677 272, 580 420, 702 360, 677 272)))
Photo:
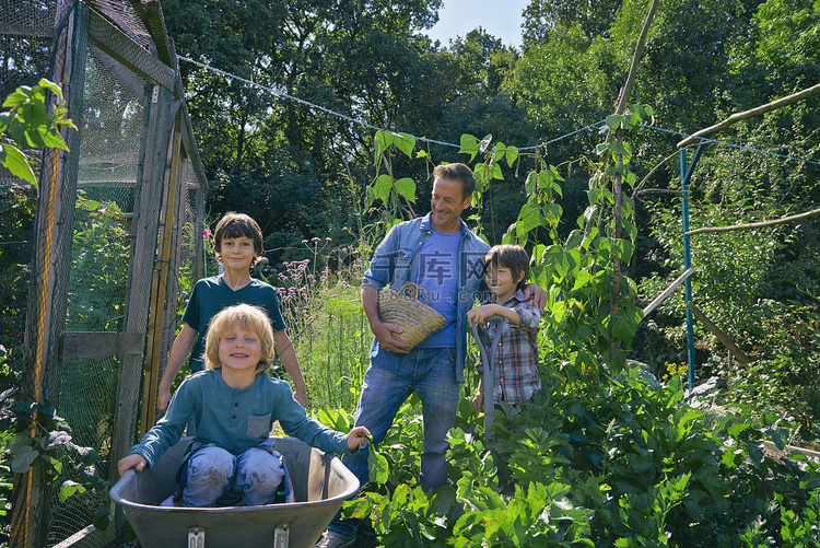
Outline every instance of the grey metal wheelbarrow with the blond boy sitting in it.
POLYGON ((335 455, 294 438, 274 438, 293 482, 295 502, 261 506, 174 508, 160 503, 176 489, 190 439, 165 452, 151 469, 133 469, 112 488, 144 548, 311 548, 359 479, 335 455))

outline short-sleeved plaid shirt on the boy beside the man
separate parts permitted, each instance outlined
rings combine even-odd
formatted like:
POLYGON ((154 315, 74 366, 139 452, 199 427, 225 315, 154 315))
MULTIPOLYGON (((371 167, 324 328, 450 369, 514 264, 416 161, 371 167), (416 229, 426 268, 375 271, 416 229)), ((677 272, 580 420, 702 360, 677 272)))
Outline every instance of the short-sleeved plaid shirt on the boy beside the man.
MULTIPOLYGON (((541 376, 538 374, 538 327, 541 324, 541 313, 531 299, 525 300, 522 290, 516 291, 504 306, 515 310, 522 323, 513 325, 506 318, 501 323, 502 333, 492 363, 493 400, 496 405, 500 401, 514 405, 530 399, 532 393, 541 388, 541 376)), ((497 325, 497 322, 488 322, 479 326, 479 337, 488 354, 488 347, 492 345, 497 325)), ((478 368, 483 373, 481 362, 478 368)))

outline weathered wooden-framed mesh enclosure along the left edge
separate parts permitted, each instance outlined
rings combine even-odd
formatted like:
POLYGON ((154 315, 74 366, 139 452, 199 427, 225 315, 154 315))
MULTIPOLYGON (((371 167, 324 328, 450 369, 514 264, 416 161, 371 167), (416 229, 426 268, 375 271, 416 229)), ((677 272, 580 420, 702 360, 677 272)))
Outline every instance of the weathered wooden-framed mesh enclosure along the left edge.
MULTIPOLYGON (((180 281, 203 264, 207 180, 176 55, 155 0, 0 0, 0 39, 3 96, 47 78, 79 129, 65 133, 70 152, 38 159, 34 235, 19 243, 32 256, 19 288, 31 354, 16 399, 54 406, 109 478, 138 425, 153 424, 180 281)), ((3 199, 22 186, 2 183, 3 199)), ((15 476, 12 546, 109 544, 115 527, 89 526, 107 500, 60 501, 77 478, 66 470, 54 488, 42 460, 15 476)))

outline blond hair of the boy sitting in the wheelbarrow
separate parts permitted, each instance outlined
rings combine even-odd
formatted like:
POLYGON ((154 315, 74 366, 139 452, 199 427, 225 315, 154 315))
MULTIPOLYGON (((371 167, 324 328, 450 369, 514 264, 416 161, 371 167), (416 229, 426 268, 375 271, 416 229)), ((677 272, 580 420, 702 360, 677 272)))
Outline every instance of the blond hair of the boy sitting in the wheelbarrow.
POLYGON ((208 324, 208 335, 206 336, 206 369, 222 369, 220 342, 225 334, 237 325, 246 331, 255 333, 259 337, 261 353, 259 355, 259 363, 256 364, 256 370, 254 371, 254 374, 259 376, 271 366, 277 355, 273 328, 270 326, 270 319, 268 319, 265 311, 249 304, 229 306, 211 318, 211 322, 208 324))

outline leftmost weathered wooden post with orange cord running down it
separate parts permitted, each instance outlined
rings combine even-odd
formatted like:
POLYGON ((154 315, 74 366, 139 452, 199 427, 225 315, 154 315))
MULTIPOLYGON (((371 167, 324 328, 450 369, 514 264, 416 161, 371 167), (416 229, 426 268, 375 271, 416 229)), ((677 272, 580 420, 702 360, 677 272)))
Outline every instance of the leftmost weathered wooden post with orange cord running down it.
MULTIPOLYGON (((82 97, 85 81, 89 11, 75 4, 69 24, 60 36, 52 80, 62 83, 68 117, 82 127, 82 97)), ((26 345, 32 350, 26 377, 21 383, 21 400, 57 406, 60 361, 58 341, 66 324, 71 242, 77 202, 77 172, 80 135, 62 131, 69 151, 48 150, 40 172, 39 198, 35 218, 35 250, 26 304, 26 345)), ((35 413, 35 421, 38 420, 35 413)), ((36 430, 32 429, 32 434, 36 430)), ((38 548, 46 545, 50 517, 50 486, 42 459, 27 474, 15 475, 12 495, 11 546, 38 548)))

